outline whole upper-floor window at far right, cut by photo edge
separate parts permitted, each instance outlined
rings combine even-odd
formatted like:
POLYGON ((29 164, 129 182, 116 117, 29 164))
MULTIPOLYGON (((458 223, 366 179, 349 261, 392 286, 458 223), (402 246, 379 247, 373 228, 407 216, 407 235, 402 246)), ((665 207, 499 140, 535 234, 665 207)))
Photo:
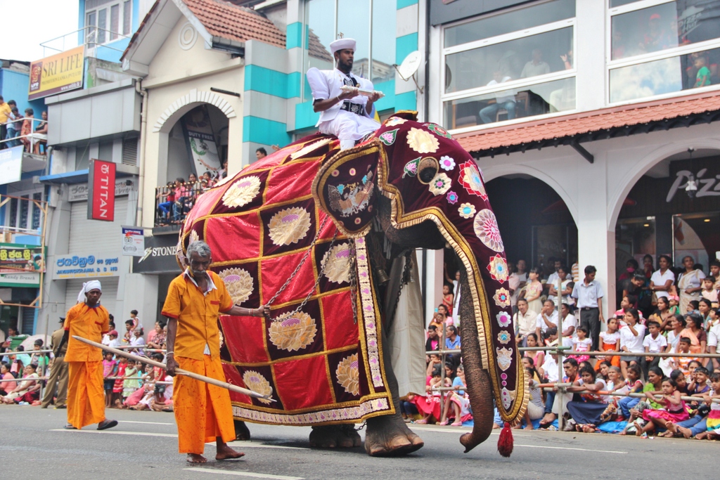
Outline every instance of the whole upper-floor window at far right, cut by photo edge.
POLYGON ((610 6, 611 103, 720 83, 720 0, 611 0, 610 6))

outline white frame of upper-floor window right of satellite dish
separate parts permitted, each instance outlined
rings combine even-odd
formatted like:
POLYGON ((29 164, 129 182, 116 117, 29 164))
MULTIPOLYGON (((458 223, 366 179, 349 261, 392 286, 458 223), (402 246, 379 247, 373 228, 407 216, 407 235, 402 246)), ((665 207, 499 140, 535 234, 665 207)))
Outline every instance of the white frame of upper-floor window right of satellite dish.
MULTIPOLYGON (((552 0, 547 0, 547 1, 552 1, 552 0)), ((533 35, 539 35, 541 33, 562 30, 563 28, 568 28, 568 27, 572 27, 572 45, 573 45, 573 48, 576 48, 575 47, 575 45, 577 45, 576 17, 572 17, 570 19, 557 20, 556 22, 541 24, 541 25, 537 25, 536 27, 526 28, 524 30, 516 30, 515 32, 509 32, 509 33, 505 33, 503 35, 497 35, 495 37, 484 38, 482 40, 474 40, 473 42, 467 42, 467 43, 462 43, 459 45, 453 45, 452 47, 444 47, 445 30, 448 28, 456 27, 461 24, 472 23, 472 22, 477 21, 480 18, 498 17, 499 15, 503 15, 508 12, 512 12, 514 10, 531 8, 533 6, 543 4, 543 3, 546 3, 546 2, 539 1, 537 3, 530 4, 530 5, 516 6, 511 9, 504 9, 502 12, 483 15, 481 17, 473 17, 470 19, 461 20, 459 22, 453 22, 453 23, 443 25, 442 30, 440 32, 440 39, 439 39, 439 41, 441 42, 441 55, 439 58, 440 65, 438 68, 438 71, 440 72, 440 89, 439 90, 441 91, 440 99, 439 99, 439 102, 440 102, 439 112, 440 112, 441 116, 443 117, 443 119, 445 118, 445 102, 446 101, 464 99, 464 98, 468 98, 471 96, 478 96, 478 95, 484 95, 484 94, 492 94, 497 91, 517 90, 518 88, 524 87, 524 86, 533 86, 533 85, 537 85, 539 83, 548 83, 550 81, 564 80, 566 78, 577 77, 577 66, 576 66, 577 59, 574 59, 572 68, 570 68, 569 70, 562 70, 562 71, 557 71, 557 72, 546 73, 544 75, 538 75, 538 76, 534 76, 531 78, 518 78, 517 80, 511 80, 511 81, 508 81, 505 83, 500 83, 497 86, 483 85, 483 86, 474 87, 472 89, 454 91, 449 94, 445 93, 445 79, 446 79, 446 68, 445 68, 446 60, 445 59, 446 59, 447 55, 452 55, 454 53, 460 53, 460 52, 464 52, 467 50, 474 50, 474 49, 480 48, 480 47, 487 47, 489 45, 495 45, 498 43, 508 42, 511 40, 518 40, 518 39, 524 38, 524 37, 531 37, 533 35)), ((577 6, 576 6, 576 9, 577 9, 577 6)), ((470 127, 448 129, 448 131, 451 133, 454 133, 454 134, 455 133, 464 133, 464 132, 474 132, 476 130, 486 130, 489 128, 495 128, 495 127, 498 127, 499 125, 517 124, 517 123, 535 121, 537 119, 544 119, 544 118, 549 118, 549 117, 559 117, 562 115, 571 114, 571 113, 577 112, 577 95, 578 94, 579 94, 579 92, 577 91, 577 88, 576 88, 575 89, 575 98, 576 98, 576 101, 575 101, 576 108, 575 109, 563 110, 562 112, 552 112, 552 113, 547 113, 547 114, 532 115, 529 117, 521 117, 521 118, 516 118, 516 119, 512 119, 512 120, 504 120, 502 122, 493 122, 490 124, 478 124, 478 125, 472 125, 470 127)))

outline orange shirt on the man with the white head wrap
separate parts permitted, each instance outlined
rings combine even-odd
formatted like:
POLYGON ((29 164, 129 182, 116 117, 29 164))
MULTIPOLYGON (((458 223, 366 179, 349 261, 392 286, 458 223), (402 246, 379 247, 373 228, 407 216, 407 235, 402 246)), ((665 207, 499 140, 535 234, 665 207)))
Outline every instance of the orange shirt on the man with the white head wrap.
POLYGON ((94 362, 102 361, 102 350, 80 340, 75 340, 73 336, 86 338, 97 343, 102 343, 102 335, 110 330, 110 317, 107 309, 102 305, 95 308, 88 307, 87 304, 76 304, 75 307, 68 310, 65 318, 65 330, 70 330, 70 339, 68 340, 68 351, 65 354, 66 362, 94 362))

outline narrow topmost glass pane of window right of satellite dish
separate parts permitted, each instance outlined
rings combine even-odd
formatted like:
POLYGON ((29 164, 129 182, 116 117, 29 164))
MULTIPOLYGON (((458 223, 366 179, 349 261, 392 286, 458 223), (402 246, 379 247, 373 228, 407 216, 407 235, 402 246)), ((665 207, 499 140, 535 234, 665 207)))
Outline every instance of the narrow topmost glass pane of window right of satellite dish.
POLYGON ((446 28, 445 47, 497 37, 572 17, 575 17, 575 0, 554 0, 446 28))

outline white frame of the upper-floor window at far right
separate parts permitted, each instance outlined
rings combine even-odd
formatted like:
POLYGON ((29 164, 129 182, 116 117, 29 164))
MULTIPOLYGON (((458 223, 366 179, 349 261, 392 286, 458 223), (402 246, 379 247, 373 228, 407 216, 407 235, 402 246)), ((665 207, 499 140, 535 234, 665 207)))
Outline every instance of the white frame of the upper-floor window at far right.
POLYGON ((618 107, 621 105, 644 103, 650 100, 662 100, 672 99, 678 96, 687 96, 694 94, 702 94, 706 91, 715 91, 720 89, 720 85, 708 85, 697 89, 687 89, 673 91, 668 94, 659 94, 652 96, 643 96, 638 99, 623 100, 623 101, 611 101, 611 85, 610 85, 610 74, 611 71, 617 70, 618 68, 629 67, 631 65, 641 65, 642 63, 649 63, 656 60, 665 60, 666 58, 674 58, 680 55, 688 55, 689 53, 701 52, 703 50, 712 50, 720 48, 720 36, 712 40, 705 40, 703 42, 690 43, 688 45, 678 45, 678 47, 667 48, 657 52, 643 53, 641 55, 634 55, 628 58, 620 58, 618 60, 612 60, 613 55, 613 17, 629 12, 636 12, 637 10, 647 9, 652 6, 658 6, 663 4, 674 3, 675 0, 640 0, 630 4, 610 7, 610 0, 606 0, 606 92, 605 102, 608 107, 618 107))

